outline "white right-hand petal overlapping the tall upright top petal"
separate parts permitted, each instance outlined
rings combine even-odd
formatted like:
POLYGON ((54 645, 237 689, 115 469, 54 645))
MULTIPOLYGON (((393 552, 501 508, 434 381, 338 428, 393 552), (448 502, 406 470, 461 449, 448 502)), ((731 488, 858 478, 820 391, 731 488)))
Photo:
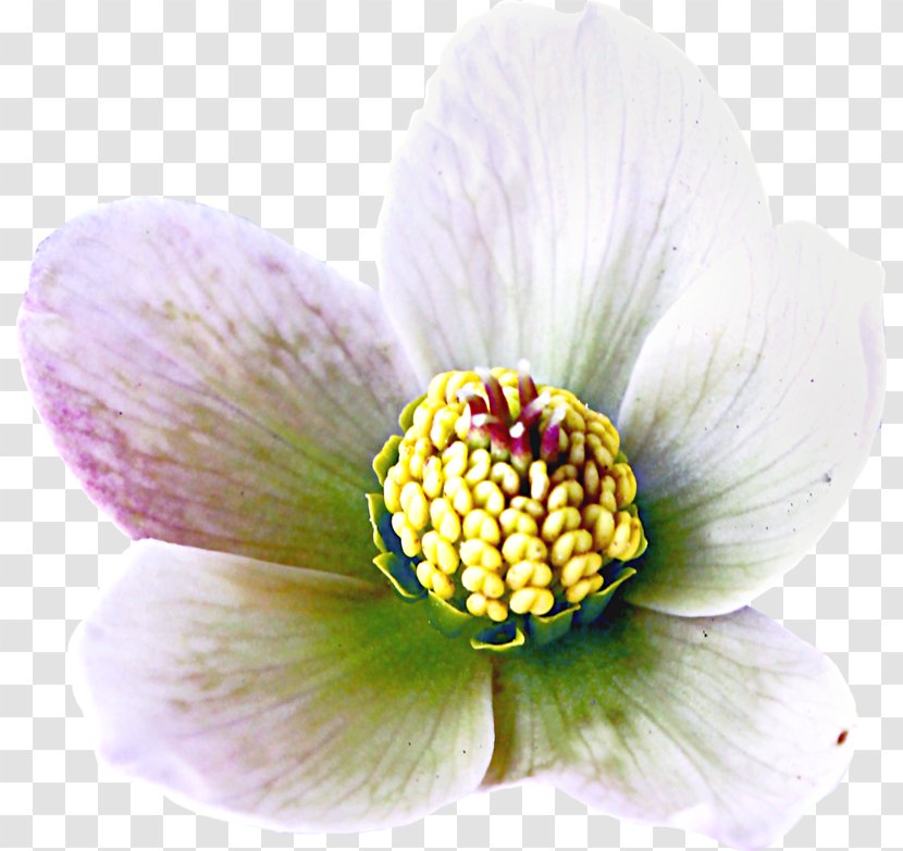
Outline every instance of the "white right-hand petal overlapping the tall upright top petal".
POLYGON ((820 228, 786 225, 655 328, 619 417, 650 540, 628 600, 729 612, 818 540, 878 427, 882 280, 820 228))

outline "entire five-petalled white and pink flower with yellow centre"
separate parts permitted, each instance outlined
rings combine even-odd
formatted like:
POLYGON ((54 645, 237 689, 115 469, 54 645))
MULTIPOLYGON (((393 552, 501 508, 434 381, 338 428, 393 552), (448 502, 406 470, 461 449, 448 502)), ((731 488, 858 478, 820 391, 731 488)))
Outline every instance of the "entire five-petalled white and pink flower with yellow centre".
POLYGON ((750 604, 868 456, 880 265, 772 225, 701 72, 593 4, 452 40, 380 252, 140 199, 38 249, 26 379, 134 539, 69 651, 100 756, 280 830, 537 780, 778 839, 856 712, 750 604))

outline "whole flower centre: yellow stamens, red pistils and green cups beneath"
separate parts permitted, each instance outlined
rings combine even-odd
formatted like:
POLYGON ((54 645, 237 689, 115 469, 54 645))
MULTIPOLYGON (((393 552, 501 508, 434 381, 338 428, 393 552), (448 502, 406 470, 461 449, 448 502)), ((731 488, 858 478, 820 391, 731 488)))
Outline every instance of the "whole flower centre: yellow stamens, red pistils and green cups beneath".
POLYGON ((542 643, 594 621, 646 541, 610 420, 525 366, 447 372, 373 462, 376 565, 474 647, 542 643), (380 499, 381 497, 381 499, 380 499))

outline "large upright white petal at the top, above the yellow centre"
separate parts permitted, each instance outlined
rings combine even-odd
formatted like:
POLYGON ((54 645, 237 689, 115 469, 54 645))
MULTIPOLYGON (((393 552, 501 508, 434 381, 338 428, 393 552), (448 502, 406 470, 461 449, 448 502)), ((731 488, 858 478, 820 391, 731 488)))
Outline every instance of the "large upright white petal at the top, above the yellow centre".
POLYGON ((681 289, 770 222, 698 68, 604 5, 502 3, 462 30, 392 174, 383 292, 413 362, 527 358, 608 412, 681 289))

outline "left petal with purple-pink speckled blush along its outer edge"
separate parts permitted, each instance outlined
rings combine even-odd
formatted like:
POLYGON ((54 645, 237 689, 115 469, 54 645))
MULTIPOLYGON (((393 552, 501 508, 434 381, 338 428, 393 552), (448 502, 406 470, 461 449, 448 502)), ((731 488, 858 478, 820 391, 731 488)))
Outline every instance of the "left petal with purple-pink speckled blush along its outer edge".
POLYGON ((418 390, 370 288, 133 200, 41 245, 20 334, 61 454, 129 535, 372 573, 370 462, 418 390))

